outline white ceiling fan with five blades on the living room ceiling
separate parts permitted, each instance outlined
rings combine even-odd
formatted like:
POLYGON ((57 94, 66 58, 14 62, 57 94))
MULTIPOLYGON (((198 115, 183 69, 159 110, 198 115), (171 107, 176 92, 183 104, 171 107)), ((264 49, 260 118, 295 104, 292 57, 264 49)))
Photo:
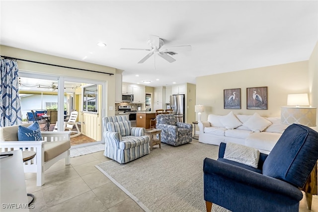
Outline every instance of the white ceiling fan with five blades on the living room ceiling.
POLYGON ((171 56, 176 55, 177 53, 174 51, 190 51, 191 46, 174 46, 169 48, 161 48, 164 45, 163 39, 159 38, 156 35, 150 35, 148 40, 148 45, 151 49, 130 49, 130 48, 121 48, 120 50, 142 50, 142 51, 151 51, 148 55, 146 55, 143 59, 141 59, 138 63, 144 63, 148 58, 150 58, 153 54, 159 55, 164 60, 172 63, 175 61, 171 56), (171 56, 170 56, 171 55, 171 56))

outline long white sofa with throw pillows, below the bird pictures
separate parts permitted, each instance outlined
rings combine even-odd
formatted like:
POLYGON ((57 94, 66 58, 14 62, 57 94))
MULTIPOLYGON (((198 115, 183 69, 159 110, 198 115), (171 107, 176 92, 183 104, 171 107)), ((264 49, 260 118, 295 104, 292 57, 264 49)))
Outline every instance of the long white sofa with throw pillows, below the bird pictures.
POLYGON ((220 145, 233 142, 254 147, 269 153, 288 127, 278 117, 235 115, 232 111, 225 116, 208 115, 208 120, 199 122, 199 142, 220 145))

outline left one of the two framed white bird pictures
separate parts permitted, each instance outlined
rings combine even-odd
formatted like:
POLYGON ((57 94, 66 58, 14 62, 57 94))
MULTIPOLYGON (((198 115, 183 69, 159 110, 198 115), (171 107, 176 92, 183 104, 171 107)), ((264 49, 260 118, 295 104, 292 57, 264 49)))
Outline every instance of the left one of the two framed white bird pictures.
POLYGON ((241 109, 240 88, 224 89, 224 109, 241 109))

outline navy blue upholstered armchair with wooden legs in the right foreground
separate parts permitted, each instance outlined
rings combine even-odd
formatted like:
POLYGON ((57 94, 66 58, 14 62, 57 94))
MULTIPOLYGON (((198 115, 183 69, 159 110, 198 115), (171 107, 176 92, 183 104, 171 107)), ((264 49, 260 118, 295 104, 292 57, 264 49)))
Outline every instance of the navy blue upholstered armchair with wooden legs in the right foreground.
MULTIPOLYGON (((223 158, 205 158, 204 200, 235 212, 298 212, 307 178, 318 159, 318 133, 308 127, 289 126, 272 151, 260 153, 258 168, 223 158)), ((317 178, 317 177, 316 177, 317 178)), ((316 179, 317 180, 317 179, 316 179)))

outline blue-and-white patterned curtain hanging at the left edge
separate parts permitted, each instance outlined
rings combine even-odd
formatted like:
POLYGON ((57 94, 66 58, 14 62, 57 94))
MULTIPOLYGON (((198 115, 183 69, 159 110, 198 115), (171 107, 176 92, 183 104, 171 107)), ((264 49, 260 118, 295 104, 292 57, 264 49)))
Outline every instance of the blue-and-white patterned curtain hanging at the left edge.
POLYGON ((16 61, 1 59, 0 127, 22 124, 19 77, 16 61))

